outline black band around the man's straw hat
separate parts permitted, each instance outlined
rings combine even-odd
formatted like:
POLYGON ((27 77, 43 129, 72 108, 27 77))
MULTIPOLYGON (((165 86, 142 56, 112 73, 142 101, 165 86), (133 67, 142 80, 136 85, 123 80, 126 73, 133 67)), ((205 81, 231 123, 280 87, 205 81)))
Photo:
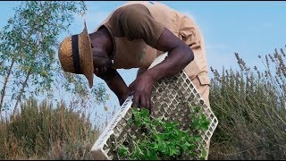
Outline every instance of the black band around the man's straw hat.
POLYGON ((81 74, 82 72, 80 72, 79 35, 71 36, 71 50, 74 72, 77 74, 81 74))

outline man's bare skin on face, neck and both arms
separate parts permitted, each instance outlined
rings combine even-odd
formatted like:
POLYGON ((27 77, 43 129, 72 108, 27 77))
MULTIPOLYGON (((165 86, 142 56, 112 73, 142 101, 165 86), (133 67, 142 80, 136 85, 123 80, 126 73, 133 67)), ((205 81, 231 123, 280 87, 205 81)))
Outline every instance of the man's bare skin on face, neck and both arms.
POLYGON ((160 64, 156 64, 147 71, 140 71, 136 80, 128 87, 121 75, 113 68, 110 56, 113 53, 113 40, 105 27, 89 34, 92 44, 93 64, 97 77, 105 80, 108 87, 118 97, 120 105, 133 92, 133 105, 146 107, 151 110, 151 90, 153 84, 164 77, 181 72, 193 59, 192 50, 177 38, 172 32, 164 28, 155 48, 168 52, 168 56, 160 64))

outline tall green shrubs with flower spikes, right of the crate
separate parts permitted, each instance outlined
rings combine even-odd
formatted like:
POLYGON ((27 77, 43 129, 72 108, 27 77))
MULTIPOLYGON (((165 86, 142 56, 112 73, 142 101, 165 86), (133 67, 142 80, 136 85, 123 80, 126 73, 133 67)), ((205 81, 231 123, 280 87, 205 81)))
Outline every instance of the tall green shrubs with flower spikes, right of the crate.
POLYGON ((283 50, 258 58, 253 70, 235 54, 240 71, 216 70, 210 103, 219 123, 210 159, 284 159, 286 157, 286 67, 283 50), (263 70, 262 70, 263 69, 263 70))

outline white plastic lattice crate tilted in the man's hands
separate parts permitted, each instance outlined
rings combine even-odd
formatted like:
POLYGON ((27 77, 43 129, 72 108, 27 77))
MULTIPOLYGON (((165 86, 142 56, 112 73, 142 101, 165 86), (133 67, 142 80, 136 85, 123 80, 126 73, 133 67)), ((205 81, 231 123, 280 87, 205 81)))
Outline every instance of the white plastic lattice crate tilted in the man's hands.
MULTIPOLYGON (((162 62, 165 55, 157 57, 156 61, 149 68, 162 62)), ((132 98, 130 96, 125 100, 91 148, 95 159, 113 159, 115 142, 131 140, 132 137, 136 137, 139 134, 139 129, 131 129, 127 123, 131 118, 132 98)), ((206 106, 203 98, 198 94, 198 90, 193 86, 187 74, 181 71, 172 77, 156 82, 152 89, 151 102, 153 106, 152 117, 164 117, 168 121, 178 121, 183 130, 189 128, 191 123, 189 118, 189 114, 192 114, 191 107, 201 107, 201 113, 205 114, 210 122, 207 131, 199 131, 202 136, 202 144, 198 147, 197 152, 201 153, 202 148, 211 139, 218 121, 211 108, 206 106), (188 102, 191 107, 186 105, 188 102)))

